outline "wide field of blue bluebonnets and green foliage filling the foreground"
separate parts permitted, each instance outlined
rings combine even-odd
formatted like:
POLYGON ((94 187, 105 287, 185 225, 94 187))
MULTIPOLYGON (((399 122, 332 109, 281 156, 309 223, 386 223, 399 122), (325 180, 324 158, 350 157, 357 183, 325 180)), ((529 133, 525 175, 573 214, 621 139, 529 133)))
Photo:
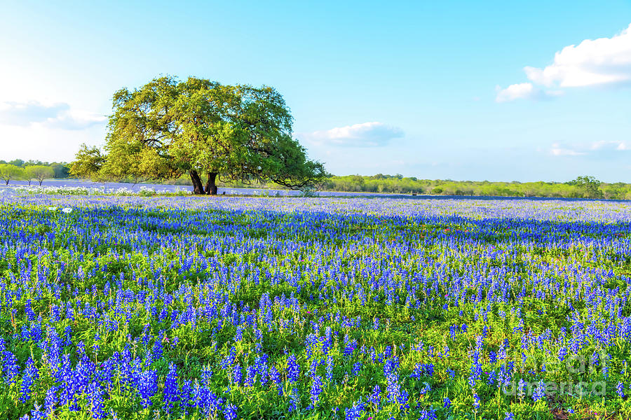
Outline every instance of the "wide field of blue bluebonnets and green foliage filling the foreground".
POLYGON ((631 203, 0 198, 0 418, 627 419, 631 203))

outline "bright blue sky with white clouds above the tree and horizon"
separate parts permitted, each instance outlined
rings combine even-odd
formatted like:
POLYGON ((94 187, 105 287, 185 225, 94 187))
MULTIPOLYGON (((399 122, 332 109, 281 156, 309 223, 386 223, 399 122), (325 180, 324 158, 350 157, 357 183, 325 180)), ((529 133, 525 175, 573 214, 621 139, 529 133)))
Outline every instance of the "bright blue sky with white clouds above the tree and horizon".
POLYGON ((631 0, 0 8, 0 160, 102 146, 112 94, 169 74, 276 87, 332 174, 631 182, 631 0))

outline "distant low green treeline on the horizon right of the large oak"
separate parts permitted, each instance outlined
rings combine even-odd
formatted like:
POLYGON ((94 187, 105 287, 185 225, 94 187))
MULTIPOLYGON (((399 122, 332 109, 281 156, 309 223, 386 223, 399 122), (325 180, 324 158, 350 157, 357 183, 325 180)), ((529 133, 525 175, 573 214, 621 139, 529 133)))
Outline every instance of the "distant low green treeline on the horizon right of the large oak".
POLYGON ((401 175, 332 176, 324 186, 330 191, 399 193, 419 195, 482 195, 499 197, 567 197, 631 200, 630 183, 603 183, 592 176, 557 182, 490 182, 430 180, 401 175))

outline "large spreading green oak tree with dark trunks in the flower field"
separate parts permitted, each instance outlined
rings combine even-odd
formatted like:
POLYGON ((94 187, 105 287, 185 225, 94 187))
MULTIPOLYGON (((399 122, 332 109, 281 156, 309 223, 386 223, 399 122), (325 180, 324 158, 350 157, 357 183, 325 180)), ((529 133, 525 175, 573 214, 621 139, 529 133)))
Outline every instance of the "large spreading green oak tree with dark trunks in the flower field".
POLYGON ((118 90, 113 111, 104 153, 82 146, 75 176, 159 180, 187 173, 197 194, 216 194, 218 178, 302 188, 326 176, 292 138, 290 109, 273 87, 161 77, 118 90))

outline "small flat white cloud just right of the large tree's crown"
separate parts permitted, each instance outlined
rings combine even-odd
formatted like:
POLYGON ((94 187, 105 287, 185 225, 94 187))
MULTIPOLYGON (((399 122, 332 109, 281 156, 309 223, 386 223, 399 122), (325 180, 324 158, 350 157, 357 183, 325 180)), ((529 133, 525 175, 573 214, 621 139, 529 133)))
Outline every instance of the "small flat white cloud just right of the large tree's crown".
POLYGON ((384 146, 391 139, 403 137, 403 131, 384 123, 362 123, 331 130, 297 134, 311 144, 330 146, 384 146))

